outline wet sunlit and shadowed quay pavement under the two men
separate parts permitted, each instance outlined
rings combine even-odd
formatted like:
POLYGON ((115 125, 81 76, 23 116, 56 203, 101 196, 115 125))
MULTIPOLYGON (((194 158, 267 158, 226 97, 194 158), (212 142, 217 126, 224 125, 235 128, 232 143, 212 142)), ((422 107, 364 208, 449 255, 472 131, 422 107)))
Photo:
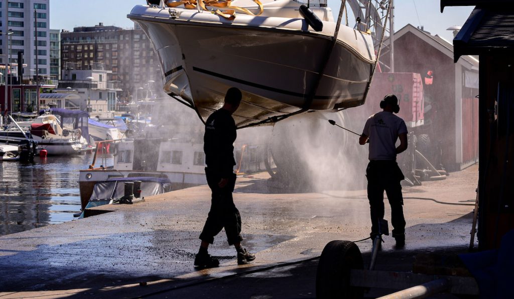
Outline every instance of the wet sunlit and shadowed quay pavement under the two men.
MULTIPOLYGON (((0 237, 0 298, 315 297, 317 260, 299 261, 319 256, 329 241, 368 236, 365 191, 284 193, 267 178, 240 177, 234 194, 243 245, 257 256, 250 265, 237 266, 222 232, 209 248, 221 266, 193 267, 210 205, 210 190, 199 186, 0 237)), ((465 250, 477 181, 475 165, 445 181, 404 187, 407 247, 394 250, 386 237, 377 267, 408 271, 417 252, 465 250)), ((371 241, 358 245, 369 254, 371 241)))

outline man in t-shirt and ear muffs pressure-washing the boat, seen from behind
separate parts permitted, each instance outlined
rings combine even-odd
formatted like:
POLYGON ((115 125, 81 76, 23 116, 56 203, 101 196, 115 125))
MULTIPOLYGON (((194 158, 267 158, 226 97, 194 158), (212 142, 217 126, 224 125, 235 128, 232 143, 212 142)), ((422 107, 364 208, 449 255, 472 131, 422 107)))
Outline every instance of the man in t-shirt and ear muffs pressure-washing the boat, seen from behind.
POLYGON ((400 111, 398 98, 386 95, 380 102, 382 112, 366 121, 359 138, 359 144, 370 144, 370 163, 366 168, 368 178, 368 199, 371 213, 371 237, 379 233, 378 223, 384 217, 383 195, 386 191, 391 205, 391 223, 396 248, 405 246, 405 218, 403 217, 403 197, 400 181, 405 177, 396 163, 396 155, 407 149, 407 126, 400 117, 393 114, 400 111), (400 139, 400 145, 396 146, 400 139))

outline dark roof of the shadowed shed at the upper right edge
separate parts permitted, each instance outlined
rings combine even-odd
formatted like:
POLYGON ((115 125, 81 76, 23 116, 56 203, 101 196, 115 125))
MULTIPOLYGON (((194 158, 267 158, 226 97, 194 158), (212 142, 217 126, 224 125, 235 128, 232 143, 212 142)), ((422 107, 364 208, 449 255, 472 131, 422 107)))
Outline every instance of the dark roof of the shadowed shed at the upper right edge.
POLYGON ((514 6, 476 7, 453 44, 455 61, 461 55, 514 51, 514 6))

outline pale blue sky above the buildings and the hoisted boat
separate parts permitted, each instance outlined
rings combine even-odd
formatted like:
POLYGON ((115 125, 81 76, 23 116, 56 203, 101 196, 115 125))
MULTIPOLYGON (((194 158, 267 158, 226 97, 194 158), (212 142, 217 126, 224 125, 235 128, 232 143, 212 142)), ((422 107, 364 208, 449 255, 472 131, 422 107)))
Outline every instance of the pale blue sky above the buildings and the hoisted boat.
MULTIPOLYGON (((462 26, 472 7, 447 7, 440 13, 439 0, 395 0, 395 31, 407 24, 415 27, 424 26, 425 31, 438 34, 449 41, 453 39, 447 28, 462 26)), ((334 17, 339 12, 340 0, 328 0, 334 17)), ((76 2, 70 0, 50 0, 50 28, 73 30, 74 27, 94 26, 102 22, 105 26, 114 25, 133 28, 133 23, 126 18, 131 9, 145 0, 88 0, 76 2)))

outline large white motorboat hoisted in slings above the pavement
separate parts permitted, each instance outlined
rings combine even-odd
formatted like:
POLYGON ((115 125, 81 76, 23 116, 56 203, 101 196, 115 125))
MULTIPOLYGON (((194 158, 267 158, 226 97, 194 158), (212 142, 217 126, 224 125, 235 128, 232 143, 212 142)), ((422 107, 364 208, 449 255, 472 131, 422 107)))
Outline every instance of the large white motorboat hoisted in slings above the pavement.
POLYGON ((203 121, 229 87, 244 95, 234 114, 238 127, 364 103, 376 63, 372 36, 345 25, 336 30, 325 0, 309 2, 319 23, 302 16, 295 0, 263 0, 262 10, 252 0, 234 0, 230 5, 249 12, 235 18, 210 6, 188 9, 188 1, 150 3, 127 17, 151 39, 164 91, 203 121))

